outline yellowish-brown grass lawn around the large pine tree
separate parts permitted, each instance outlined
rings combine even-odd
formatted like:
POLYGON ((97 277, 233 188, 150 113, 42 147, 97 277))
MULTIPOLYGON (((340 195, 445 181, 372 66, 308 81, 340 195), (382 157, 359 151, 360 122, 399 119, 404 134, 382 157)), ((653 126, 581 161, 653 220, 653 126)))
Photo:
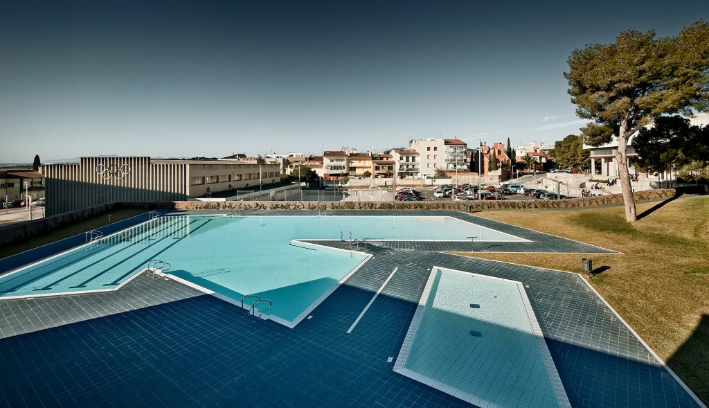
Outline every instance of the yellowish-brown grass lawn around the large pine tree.
MULTIPOLYGON (((476 215, 623 252, 588 256, 593 268, 610 267, 592 277, 591 285, 709 404, 709 197, 638 204, 637 212, 653 207, 634 224, 625 222, 622 206, 476 215)), ((579 273, 586 256, 460 255, 579 273)))

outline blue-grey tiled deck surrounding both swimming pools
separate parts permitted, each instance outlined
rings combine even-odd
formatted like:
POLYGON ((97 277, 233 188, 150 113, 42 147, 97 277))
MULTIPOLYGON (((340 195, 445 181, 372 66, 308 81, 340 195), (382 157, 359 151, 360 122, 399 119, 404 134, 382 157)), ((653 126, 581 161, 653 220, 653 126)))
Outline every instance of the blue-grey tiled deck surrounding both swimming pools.
MULTIPOLYGON (((454 211, 406 215, 454 216, 530 242, 378 242, 294 329, 251 323, 233 304, 148 275, 113 292, 0 300, 0 406, 471 407, 393 371, 434 265, 522 282, 573 407, 702 406, 579 275, 440 253, 613 251, 454 211)), ((0 273, 80 243, 0 260, 0 273)))

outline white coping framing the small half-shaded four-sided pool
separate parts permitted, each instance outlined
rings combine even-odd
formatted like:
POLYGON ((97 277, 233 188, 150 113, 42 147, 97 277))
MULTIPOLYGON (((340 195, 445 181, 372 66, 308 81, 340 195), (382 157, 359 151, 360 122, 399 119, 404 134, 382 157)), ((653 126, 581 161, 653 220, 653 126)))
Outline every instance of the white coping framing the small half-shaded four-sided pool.
POLYGON ((423 382, 425 385, 433 387, 436 390, 440 390, 448 395, 452 395, 453 397, 457 397, 471 404, 475 404, 481 408, 501 408, 498 405, 493 404, 492 402, 486 401, 485 399, 469 394, 468 392, 465 392, 463 390, 458 390, 457 388, 451 387, 450 385, 446 385, 440 381, 434 380, 430 377, 426 377, 425 375, 421 375, 413 370, 409 370, 408 368, 404 367, 404 365, 406 364, 406 359, 408 358, 409 353, 411 353, 411 346, 413 346, 413 340, 416 331, 418 330, 418 326, 421 323, 425 304, 426 302, 428 302, 428 297, 430 296, 433 281, 436 277, 435 272, 437 270, 447 270, 451 272, 464 273, 466 275, 486 277, 490 279, 501 280, 504 282, 512 282, 517 286, 518 290, 520 291, 520 296, 522 297, 523 304, 525 305, 527 318, 529 318, 530 324, 532 324, 532 331, 534 332, 535 338, 537 340, 537 346, 539 346, 540 352, 542 354, 542 361, 544 361, 545 367, 547 368, 547 374, 549 375, 549 380, 552 384, 554 395, 557 397, 557 403, 559 404, 559 407, 571 408, 571 402, 569 402, 569 397, 564 391, 564 385, 562 383, 561 377, 559 377, 557 367, 556 365, 554 365, 554 360, 552 360, 551 353, 549 353, 549 348, 547 347, 547 343, 544 340, 544 335, 542 334, 542 329, 539 325, 539 322, 537 321, 537 317, 535 316, 534 311, 532 310, 532 305, 529 302, 529 298, 527 297, 527 294, 525 292, 524 285, 522 284, 522 282, 518 282, 516 280, 503 279, 501 277, 481 275, 472 272, 465 272, 462 270, 438 267, 434 265, 430 270, 430 274, 423 289, 423 293, 421 294, 421 297, 418 300, 418 305, 416 306, 416 311, 413 314, 413 319, 411 319, 411 325, 409 326, 408 331, 406 332, 406 337, 404 338, 403 345, 401 346, 401 351, 399 351, 398 357, 396 358, 396 363, 394 363, 394 373, 404 375, 418 382, 423 382))

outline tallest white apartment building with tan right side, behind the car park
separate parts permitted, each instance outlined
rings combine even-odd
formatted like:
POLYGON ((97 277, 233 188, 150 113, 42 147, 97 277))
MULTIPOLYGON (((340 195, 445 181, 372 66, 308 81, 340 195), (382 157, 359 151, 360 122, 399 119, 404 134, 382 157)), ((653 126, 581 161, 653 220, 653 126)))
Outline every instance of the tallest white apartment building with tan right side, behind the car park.
POLYGON ((420 174, 435 175, 436 169, 465 171, 468 168, 467 143, 460 139, 428 138, 411 140, 410 150, 420 157, 420 174))

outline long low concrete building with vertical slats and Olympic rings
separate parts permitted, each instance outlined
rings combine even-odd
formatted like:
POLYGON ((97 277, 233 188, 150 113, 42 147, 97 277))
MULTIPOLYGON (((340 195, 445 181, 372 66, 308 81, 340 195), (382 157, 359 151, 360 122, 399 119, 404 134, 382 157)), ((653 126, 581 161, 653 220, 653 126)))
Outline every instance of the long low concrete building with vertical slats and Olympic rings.
POLYGON ((111 202, 184 201, 210 192, 279 182, 279 165, 227 160, 152 160, 149 157, 89 157, 48 164, 48 216, 111 202), (260 171, 259 171, 260 170, 260 171))

